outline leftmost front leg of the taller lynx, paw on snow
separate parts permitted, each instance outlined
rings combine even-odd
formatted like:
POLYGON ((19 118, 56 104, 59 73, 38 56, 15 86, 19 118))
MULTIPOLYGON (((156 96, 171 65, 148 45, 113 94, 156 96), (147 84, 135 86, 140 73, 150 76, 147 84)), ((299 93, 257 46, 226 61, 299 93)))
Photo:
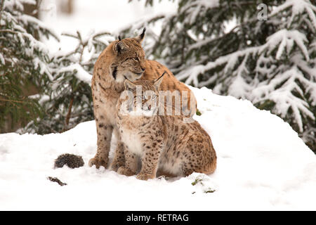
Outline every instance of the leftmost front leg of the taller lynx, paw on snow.
POLYGON ((113 126, 105 124, 104 120, 96 120, 96 127, 98 134, 98 150, 96 156, 89 160, 88 165, 90 167, 96 165, 97 168, 100 168, 100 166, 106 168, 109 159, 113 126))

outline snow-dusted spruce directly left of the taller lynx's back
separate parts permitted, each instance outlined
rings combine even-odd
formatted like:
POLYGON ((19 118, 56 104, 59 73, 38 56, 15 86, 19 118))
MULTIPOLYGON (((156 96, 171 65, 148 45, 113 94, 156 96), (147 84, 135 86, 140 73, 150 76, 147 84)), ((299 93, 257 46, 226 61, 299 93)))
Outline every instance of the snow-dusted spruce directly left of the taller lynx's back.
POLYGON ((64 34, 77 41, 70 52, 51 55, 49 67, 53 81, 41 96, 44 117, 30 122, 21 132, 48 134, 66 131, 80 122, 93 120, 91 78, 93 66, 103 49, 113 41, 109 32, 91 33, 87 37, 64 34))

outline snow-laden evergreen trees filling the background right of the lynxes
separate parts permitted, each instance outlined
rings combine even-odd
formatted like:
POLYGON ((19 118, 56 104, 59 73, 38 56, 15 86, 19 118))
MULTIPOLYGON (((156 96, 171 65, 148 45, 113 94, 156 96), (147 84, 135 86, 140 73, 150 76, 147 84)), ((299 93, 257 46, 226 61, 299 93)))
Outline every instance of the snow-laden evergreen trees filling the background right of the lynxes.
POLYGON ((162 20, 160 34, 148 32, 154 44, 147 56, 186 84, 279 115, 316 153, 315 13, 309 0, 179 0, 175 13, 152 15, 122 32, 162 20))

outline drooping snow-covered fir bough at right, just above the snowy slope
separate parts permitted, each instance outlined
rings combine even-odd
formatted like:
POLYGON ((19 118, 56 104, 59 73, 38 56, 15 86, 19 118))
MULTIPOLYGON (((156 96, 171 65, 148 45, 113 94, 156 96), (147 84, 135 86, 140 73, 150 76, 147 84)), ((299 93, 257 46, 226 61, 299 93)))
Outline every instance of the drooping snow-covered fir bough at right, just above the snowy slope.
POLYGON ((249 99, 253 103, 273 101, 276 104, 272 112, 285 118, 291 109, 293 111, 292 118, 298 125, 298 130, 303 132, 303 120, 308 120, 308 118, 315 120, 312 109, 306 101, 301 99, 301 96, 305 95, 304 93, 310 94, 310 99, 315 99, 314 96, 316 96, 315 82, 312 82, 312 79, 307 79, 304 75, 304 72, 308 72, 310 76, 315 74, 315 69, 310 68, 307 64, 313 61, 310 54, 312 54, 312 50, 308 51, 308 39, 305 34, 298 30, 282 29, 270 35, 266 43, 261 46, 235 51, 216 58, 214 61, 209 61, 206 65, 188 66, 186 70, 180 71, 176 77, 180 80, 185 79, 185 84, 192 83, 201 87, 212 84, 216 79, 223 79, 223 75, 228 75, 225 78, 225 85, 228 85, 228 88, 224 89, 222 82, 217 82, 213 89, 215 93, 227 93, 237 98, 249 99), (290 58, 293 65, 281 64, 276 68, 275 61, 287 58, 294 46, 298 47, 296 48, 298 51, 292 53, 290 58), (256 75, 267 75, 269 77, 267 81, 262 82, 256 78, 249 82, 249 76, 247 77, 249 70, 246 62, 252 56, 259 56, 256 63, 256 75), (225 65, 223 74, 218 75, 214 72, 209 79, 199 82, 199 76, 205 75, 206 72, 218 68, 220 65, 225 65), (262 68, 261 65, 263 65, 262 68), (304 89, 298 85, 297 81, 304 86, 304 89), (295 96, 294 91, 300 96, 295 96))

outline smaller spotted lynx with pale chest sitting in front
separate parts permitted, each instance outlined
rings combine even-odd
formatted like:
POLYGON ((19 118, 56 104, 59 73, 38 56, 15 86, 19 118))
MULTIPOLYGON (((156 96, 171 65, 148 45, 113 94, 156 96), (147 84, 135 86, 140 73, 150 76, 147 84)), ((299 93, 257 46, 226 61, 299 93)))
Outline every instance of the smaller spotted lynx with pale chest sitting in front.
POLYGON ((173 176, 211 174, 216 169, 216 152, 199 123, 186 123, 182 115, 158 114, 159 106, 166 107, 164 103, 157 104, 162 79, 163 75, 154 81, 124 82, 116 120, 126 162, 117 172, 126 176, 136 174, 140 157, 142 167, 137 178, 142 180, 154 179, 157 169, 173 176))

